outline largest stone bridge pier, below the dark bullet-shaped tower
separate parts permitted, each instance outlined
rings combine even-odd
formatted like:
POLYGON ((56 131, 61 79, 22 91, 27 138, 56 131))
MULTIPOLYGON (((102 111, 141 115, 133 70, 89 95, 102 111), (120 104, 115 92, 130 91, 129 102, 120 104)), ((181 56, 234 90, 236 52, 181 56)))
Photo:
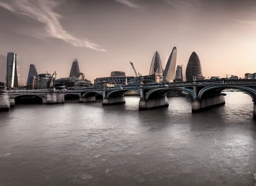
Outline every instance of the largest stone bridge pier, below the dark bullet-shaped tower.
POLYGON ((195 99, 192 101, 192 112, 202 112, 224 104, 225 98, 223 96, 203 98, 201 101, 195 99))

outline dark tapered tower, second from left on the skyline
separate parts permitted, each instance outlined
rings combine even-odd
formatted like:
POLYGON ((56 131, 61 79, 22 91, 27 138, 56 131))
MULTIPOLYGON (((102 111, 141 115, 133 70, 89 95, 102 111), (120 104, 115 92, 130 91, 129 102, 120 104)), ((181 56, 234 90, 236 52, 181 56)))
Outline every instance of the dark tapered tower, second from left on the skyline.
POLYGON ((39 89, 39 76, 35 65, 30 65, 27 80, 27 90, 39 89))

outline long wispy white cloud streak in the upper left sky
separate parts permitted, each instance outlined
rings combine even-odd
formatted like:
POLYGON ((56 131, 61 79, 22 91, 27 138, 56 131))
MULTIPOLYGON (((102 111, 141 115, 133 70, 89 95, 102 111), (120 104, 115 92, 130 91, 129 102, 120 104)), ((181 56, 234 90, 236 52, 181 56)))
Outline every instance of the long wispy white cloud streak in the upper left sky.
POLYGON ((15 14, 26 15, 45 24, 48 37, 57 38, 75 47, 91 48, 96 51, 106 50, 88 39, 79 39, 64 30, 60 23, 61 15, 53 11, 64 0, 11 0, 8 3, 1 1, 0 7, 15 14))

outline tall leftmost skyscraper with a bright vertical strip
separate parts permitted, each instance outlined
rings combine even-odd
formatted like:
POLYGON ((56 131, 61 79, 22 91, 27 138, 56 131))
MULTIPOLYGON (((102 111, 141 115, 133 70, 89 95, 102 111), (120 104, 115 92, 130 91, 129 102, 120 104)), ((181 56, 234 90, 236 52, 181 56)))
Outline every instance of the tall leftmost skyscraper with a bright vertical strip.
POLYGON ((7 53, 6 86, 7 88, 18 87, 17 54, 7 53))

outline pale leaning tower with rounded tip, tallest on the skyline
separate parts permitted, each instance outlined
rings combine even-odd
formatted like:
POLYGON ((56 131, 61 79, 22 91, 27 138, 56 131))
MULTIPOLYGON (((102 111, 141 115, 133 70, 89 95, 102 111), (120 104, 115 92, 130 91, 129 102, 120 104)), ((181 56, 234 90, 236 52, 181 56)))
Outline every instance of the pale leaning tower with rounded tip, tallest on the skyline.
POLYGON ((164 78, 168 82, 173 82, 175 78, 176 61, 177 61, 177 49, 176 47, 173 47, 171 55, 164 69, 164 78))

